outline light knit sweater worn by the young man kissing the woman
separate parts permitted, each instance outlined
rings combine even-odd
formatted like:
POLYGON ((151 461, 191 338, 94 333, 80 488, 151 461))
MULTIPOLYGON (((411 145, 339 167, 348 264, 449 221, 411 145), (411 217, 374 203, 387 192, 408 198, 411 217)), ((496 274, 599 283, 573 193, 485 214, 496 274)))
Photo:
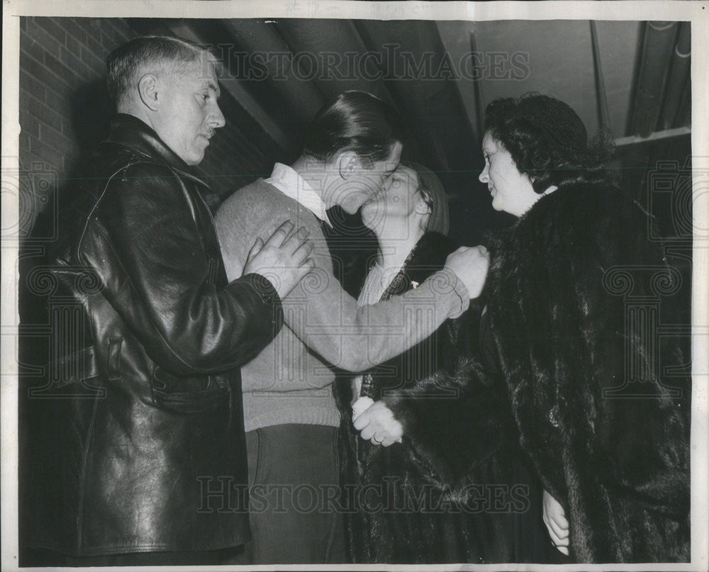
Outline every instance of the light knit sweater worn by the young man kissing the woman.
POLYGON ((469 302, 464 284, 444 269, 403 296, 357 308, 333 276, 316 215, 263 179, 236 191, 216 215, 229 280, 241 276, 257 237, 267 240, 288 218, 310 230, 315 268, 283 301, 279 335, 242 367, 247 431, 285 423, 337 427, 332 366, 363 371, 381 364, 463 313, 469 302))

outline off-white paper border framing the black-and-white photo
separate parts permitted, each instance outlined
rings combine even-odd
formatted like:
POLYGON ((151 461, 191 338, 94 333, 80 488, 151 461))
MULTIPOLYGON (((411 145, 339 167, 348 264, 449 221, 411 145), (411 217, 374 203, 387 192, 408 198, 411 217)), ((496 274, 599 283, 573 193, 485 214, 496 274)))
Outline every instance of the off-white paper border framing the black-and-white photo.
MULTIPOLYGON (((381 20, 624 20, 691 21, 693 219, 695 230, 709 232, 709 189, 698 186, 698 171, 709 170, 709 2, 707 1, 493 1, 493 2, 370 2, 350 0, 5 0, 2 52, 2 172, 18 169, 19 37, 18 16, 83 16, 93 18, 339 18, 381 20)), ((3 187, 5 181, 3 181, 3 187)), ((18 218, 14 194, 2 194, 2 228, 18 218)), ((695 240, 692 282, 692 422, 691 422, 691 554, 686 563, 621 565, 549 564, 494 565, 337 565, 279 566, 307 570, 642 570, 706 571, 709 569, 709 249, 695 240)), ((19 323, 16 243, 2 241, 1 280, 1 536, 3 570, 18 569, 18 379, 15 340, 19 323)), ((274 566, 185 566, 186 570, 254 569, 274 566)), ((29 569, 29 568, 23 568, 29 569)), ((96 568, 94 568, 96 569, 96 568)), ((118 568, 101 568, 117 570, 118 568)), ((141 566, 135 569, 160 570, 141 566)), ((162 568, 164 569, 164 568, 162 568)))

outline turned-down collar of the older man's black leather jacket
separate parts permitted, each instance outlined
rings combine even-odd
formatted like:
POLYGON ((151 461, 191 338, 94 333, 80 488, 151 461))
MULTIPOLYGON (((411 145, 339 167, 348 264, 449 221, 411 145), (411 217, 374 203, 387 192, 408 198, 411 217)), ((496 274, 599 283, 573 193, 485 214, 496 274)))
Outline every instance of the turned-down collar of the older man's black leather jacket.
POLYGON ((106 138, 106 142, 127 147, 133 152, 137 152, 145 157, 167 163, 180 174, 189 177, 203 186, 209 188, 202 179, 191 172, 191 168, 177 154, 164 144, 162 139, 155 133, 150 125, 129 113, 116 113, 109 120, 111 131, 106 138))

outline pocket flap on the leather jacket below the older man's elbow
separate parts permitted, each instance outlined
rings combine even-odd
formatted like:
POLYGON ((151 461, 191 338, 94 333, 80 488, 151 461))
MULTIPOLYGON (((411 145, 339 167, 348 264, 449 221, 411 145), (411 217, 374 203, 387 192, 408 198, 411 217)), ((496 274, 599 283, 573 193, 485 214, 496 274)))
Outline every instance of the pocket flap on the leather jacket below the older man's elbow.
POLYGON ((223 377, 181 377, 157 366, 152 373, 152 400, 177 413, 213 410, 229 400, 229 384, 223 377))

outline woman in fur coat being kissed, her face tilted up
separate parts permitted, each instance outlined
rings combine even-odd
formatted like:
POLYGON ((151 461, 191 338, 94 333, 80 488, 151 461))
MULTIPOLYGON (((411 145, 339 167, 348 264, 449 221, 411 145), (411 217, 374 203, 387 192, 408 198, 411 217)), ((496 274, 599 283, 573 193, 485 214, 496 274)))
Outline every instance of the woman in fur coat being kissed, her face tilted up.
MULTIPOLYGON (((404 162, 362 219, 380 248, 360 280, 361 305, 415 288, 454 249, 445 191, 418 164, 404 162)), ((425 320, 427 311, 423 300, 403 319, 425 320)), ((478 331, 471 308, 402 356, 337 380, 355 563, 548 561, 541 488, 518 447, 504 384, 471 352, 478 331)))

